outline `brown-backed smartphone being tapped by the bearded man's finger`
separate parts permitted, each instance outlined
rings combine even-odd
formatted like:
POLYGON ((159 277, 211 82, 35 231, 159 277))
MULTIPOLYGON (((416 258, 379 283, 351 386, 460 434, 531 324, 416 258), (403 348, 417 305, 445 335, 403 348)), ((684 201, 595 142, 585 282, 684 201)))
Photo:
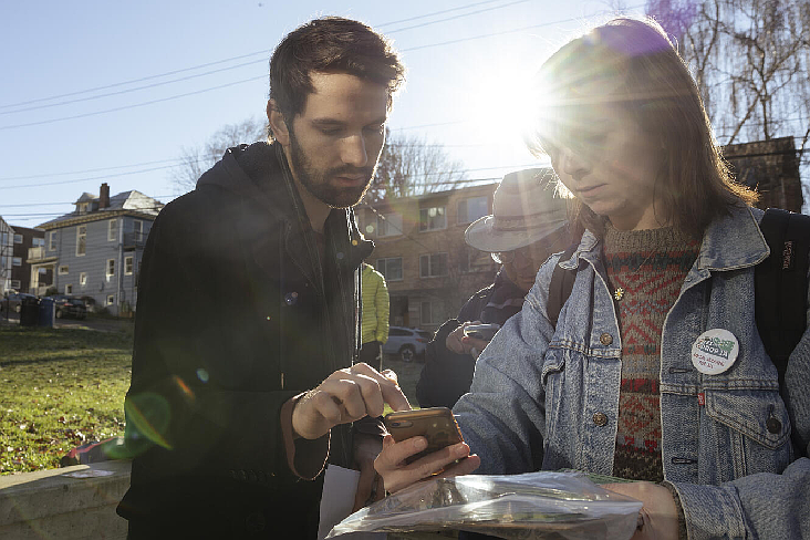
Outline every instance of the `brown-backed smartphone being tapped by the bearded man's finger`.
POLYGON ((385 416, 385 427, 397 443, 417 435, 427 439, 427 448, 407 458, 405 460, 407 464, 440 450, 445 446, 464 442, 456 418, 447 407, 390 413, 385 416))

